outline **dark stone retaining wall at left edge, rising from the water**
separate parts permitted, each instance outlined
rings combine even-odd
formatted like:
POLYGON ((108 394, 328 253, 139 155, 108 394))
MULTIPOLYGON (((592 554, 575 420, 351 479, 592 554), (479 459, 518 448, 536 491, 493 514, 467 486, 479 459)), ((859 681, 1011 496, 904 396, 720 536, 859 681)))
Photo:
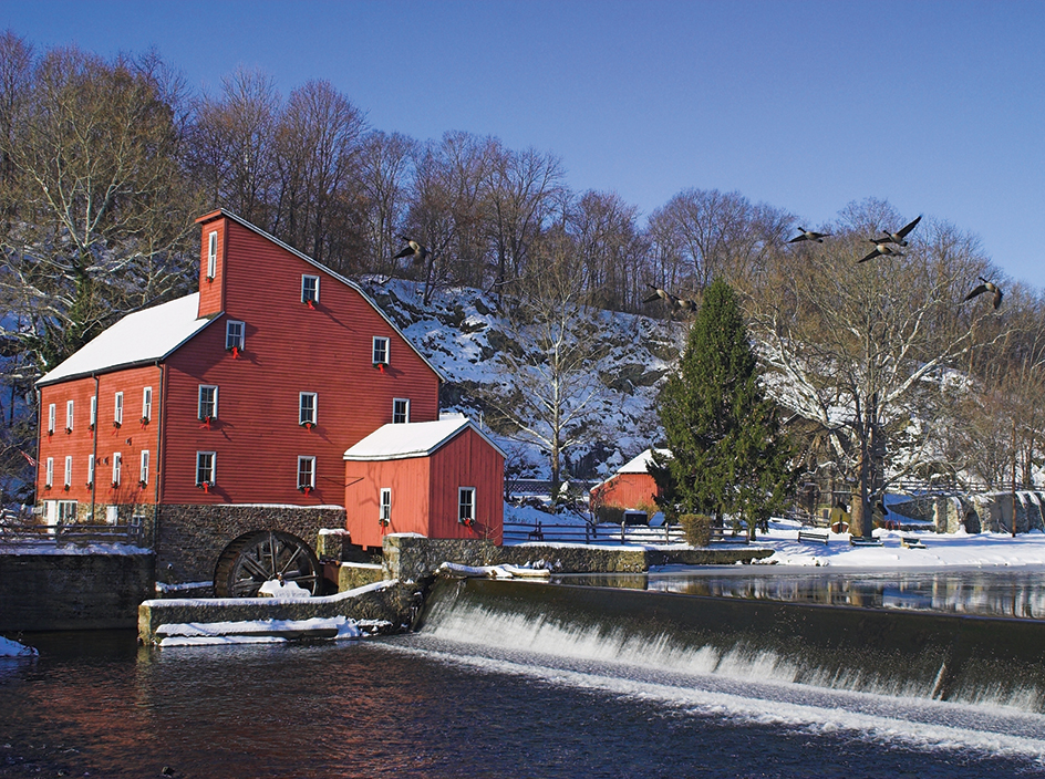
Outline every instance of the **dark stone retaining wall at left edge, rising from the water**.
POLYGON ((134 627, 153 554, 0 554, 0 631, 134 627))

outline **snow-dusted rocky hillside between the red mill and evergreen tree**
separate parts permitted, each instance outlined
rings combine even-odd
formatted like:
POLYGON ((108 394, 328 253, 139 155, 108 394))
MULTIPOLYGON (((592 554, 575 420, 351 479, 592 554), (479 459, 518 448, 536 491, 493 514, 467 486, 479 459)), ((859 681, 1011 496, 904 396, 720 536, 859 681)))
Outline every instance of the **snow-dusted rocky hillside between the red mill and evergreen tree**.
MULTIPOLYGON (((486 397, 508 396, 516 383, 505 351, 517 343, 496 298, 476 289, 447 288, 435 290, 425 305, 417 282, 372 278, 363 285, 445 376, 442 409, 482 424, 509 454, 509 475, 546 478, 548 456, 540 444, 492 425, 486 397)), ((586 319, 588 332, 606 353, 598 362, 598 393, 591 401, 596 420, 583 426, 580 442, 566 451, 566 475, 578 479, 604 477, 660 438, 656 396, 687 329, 685 323, 599 309, 587 310, 586 319)))

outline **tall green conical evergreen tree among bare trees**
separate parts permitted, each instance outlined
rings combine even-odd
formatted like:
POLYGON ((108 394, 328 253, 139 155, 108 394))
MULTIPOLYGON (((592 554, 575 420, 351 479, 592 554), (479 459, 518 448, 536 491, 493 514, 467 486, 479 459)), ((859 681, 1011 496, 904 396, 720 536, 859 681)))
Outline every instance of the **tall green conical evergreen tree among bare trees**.
POLYGON ((758 376, 736 294, 716 279, 660 398, 671 455, 654 454, 650 471, 669 518, 707 513, 721 526, 731 515, 754 538, 786 507, 796 479, 790 445, 758 376))

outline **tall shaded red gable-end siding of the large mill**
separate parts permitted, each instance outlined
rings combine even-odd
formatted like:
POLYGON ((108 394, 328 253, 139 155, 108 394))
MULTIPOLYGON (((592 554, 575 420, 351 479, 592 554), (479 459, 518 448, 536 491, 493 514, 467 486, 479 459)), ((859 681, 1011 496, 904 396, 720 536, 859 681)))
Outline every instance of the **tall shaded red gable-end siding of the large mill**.
POLYGON ((162 500, 341 505, 345 449, 392 420, 393 398, 410 398, 413 422, 438 418, 438 377, 356 290, 226 217, 203 225, 204 262, 216 225, 225 315, 167 363, 162 500), (314 309, 301 303, 302 274, 320 277, 314 309), (246 324, 238 359, 225 351, 229 319, 246 324), (374 335, 391 339, 383 372, 372 363, 374 335), (218 387, 209 428, 197 419, 200 384, 218 387), (301 392, 318 395, 311 430, 298 424, 301 392), (208 494, 196 487, 197 451, 216 453, 208 494), (299 455, 317 458, 308 496, 297 490, 299 455))

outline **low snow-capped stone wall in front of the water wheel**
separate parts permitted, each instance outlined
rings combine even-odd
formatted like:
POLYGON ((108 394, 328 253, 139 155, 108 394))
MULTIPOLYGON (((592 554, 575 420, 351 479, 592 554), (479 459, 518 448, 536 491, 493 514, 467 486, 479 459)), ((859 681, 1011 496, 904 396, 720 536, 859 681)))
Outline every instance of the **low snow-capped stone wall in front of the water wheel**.
POLYGON ((387 622, 389 630, 384 632, 401 632, 410 627, 420 605, 417 588, 397 581, 377 582, 322 598, 152 600, 138 606, 138 641, 143 644, 156 643, 157 629, 165 624, 333 616, 387 622))

